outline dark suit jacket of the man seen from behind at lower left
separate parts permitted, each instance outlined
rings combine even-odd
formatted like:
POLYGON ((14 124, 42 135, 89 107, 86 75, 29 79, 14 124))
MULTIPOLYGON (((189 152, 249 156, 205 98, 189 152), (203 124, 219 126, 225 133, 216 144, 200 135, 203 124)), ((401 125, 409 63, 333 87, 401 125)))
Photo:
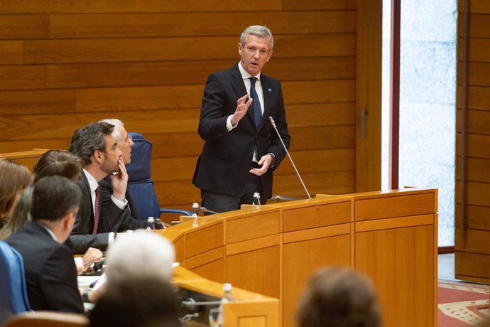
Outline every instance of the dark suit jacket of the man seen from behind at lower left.
POLYGON ((66 245, 38 223, 27 221, 6 242, 22 256, 27 295, 33 310, 83 313, 77 268, 66 245))

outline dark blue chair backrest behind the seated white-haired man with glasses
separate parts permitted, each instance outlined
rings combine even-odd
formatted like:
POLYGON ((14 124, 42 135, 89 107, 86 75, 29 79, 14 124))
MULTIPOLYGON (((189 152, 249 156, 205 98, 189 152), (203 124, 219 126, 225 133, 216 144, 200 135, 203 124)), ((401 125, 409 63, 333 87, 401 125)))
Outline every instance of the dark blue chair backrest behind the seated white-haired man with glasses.
POLYGON ((126 166, 129 175, 129 193, 138 210, 139 219, 160 217, 160 205, 151 180, 150 141, 141 134, 131 132, 134 146, 131 149, 131 164, 126 166))

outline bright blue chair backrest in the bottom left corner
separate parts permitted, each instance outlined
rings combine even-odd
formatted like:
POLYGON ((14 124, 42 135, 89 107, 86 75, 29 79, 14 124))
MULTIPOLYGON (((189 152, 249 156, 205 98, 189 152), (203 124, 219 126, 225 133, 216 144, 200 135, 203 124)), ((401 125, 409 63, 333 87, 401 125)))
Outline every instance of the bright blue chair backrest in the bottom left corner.
POLYGON ((21 254, 0 241, 0 326, 14 314, 30 310, 21 254))

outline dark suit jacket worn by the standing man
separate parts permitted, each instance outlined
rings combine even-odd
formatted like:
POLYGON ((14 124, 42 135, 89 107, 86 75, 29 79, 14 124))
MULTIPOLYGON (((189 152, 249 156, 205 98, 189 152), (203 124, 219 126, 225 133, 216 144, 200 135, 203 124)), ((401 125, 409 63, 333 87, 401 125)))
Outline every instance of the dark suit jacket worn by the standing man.
POLYGON ((227 118, 235 112, 236 101, 247 93, 238 63, 208 77, 198 129, 205 144, 192 179, 198 188, 224 195, 238 195, 249 178, 254 149, 257 148, 257 159, 269 152, 276 156, 274 166, 269 167, 260 178, 264 195, 271 198, 272 171, 281 164, 285 151, 268 117, 276 120, 279 134, 287 147, 290 136, 281 82, 261 74, 261 84, 264 111, 258 129, 254 124, 254 109, 250 106, 238 126, 228 132, 227 118))

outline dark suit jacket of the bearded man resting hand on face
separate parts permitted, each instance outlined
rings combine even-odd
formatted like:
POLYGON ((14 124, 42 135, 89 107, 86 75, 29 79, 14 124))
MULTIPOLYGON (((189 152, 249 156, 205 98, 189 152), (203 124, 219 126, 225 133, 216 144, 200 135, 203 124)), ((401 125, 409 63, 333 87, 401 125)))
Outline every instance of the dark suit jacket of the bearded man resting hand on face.
POLYGON ((92 234, 92 230, 94 230, 94 210, 89 181, 83 171, 80 173, 80 181, 77 181, 77 185, 82 191, 82 199, 80 200, 80 209, 78 210, 72 233, 68 237, 67 245, 72 247, 74 254, 85 253, 89 247, 106 250, 109 242, 109 232, 116 232, 114 225, 116 225, 116 221, 123 210, 119 209, 112 201, 102 205, 104 201, 101 195, 99 200, 99 227, 97 227, 97 234, 92 234))

